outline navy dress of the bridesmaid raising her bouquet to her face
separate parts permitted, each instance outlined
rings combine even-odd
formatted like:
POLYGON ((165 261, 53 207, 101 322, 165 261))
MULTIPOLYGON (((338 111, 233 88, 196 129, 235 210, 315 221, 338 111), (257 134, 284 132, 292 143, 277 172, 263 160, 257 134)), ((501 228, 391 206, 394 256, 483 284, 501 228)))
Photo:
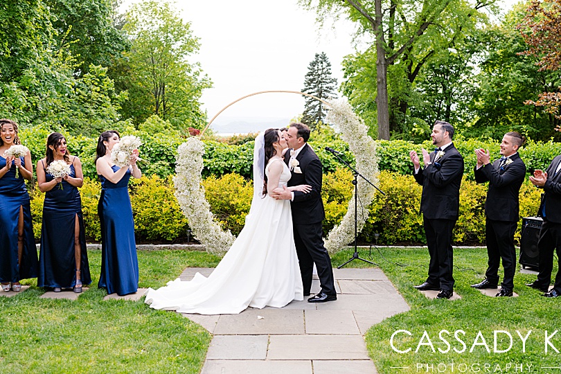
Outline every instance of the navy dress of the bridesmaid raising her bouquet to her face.
MULTIPOLYGON (((113 172, 119 170, 112 166, 113 172)), ((130 170, 116 184, 98 175, 101 197, 101 273, 98 287, 107 294, 134 294, 139 287, 139 261, 136 258, 134 221, 129 197, 130 170)))

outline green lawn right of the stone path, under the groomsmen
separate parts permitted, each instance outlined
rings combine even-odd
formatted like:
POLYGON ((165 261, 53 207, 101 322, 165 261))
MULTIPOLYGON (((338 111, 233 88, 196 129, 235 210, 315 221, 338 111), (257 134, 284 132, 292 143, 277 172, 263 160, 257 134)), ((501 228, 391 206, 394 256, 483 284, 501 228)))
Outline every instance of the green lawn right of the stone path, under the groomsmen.
MULTIPOLYGON (((429 300, 412 287, 427 278, 427 249, 381 248, 380 252, 373 251, 371 260, 380 264, 386 276, 411 307, 409 312, 385 319, 370 328, 366 334, 368 353, 380 373, 514 373, 521 372, 519 367, 518 371, 515 371, 515 365, 520 364, 523 365, 522 372, 561 373, 560 353, 555 352, 551 346, 548 347, 548 353, 545 353, 545 332, 551 335, 555 330, 561 329, 561 298, 547 299, 541 296, 539 291, 526 287, 524 283, 534 281, 535 275, 520 274, 517 271, 515 292, 519 297, 484 296, 470 285, 479 283, 484 278, 487 266, 486 249, 454 249, 454 290, 462 299, 429 300), (395 263, 407 266, 401 267, 395 263), (408 353, 398 353, 391 348, 391 335, 397 330, 411 332, 411 336, 400 332, 394 339, 395 348, 411 348, 408 353), (438 350, 448 348, 439 338, 442 330, 451 333, 447 335, 442 332, 450 346, 447 353, 438 350), (463 353, 454 351, 454 348, 463 350, 462 344, 454 338, 454 332, 457 330, 465 332, 465 335, 458 332, 458 338, 466 346, 463 353), (507 331, 513 337, 513 345, 505 353, 494 351, 495 330, 507 331), (531 331, 526 340, 525 352, 517 330, 523 337, 531 331), (423 338, 425 331, 427 335, 423 338), (479 332, 481 335, 478 337, 479 332), (483 339, 490 353, 483 345, 483 339), (429 340, 436 352, 429 346, 429 340), (422 345, 419 346, 420 342, 422 345), (475 346, 474 342, 477 343, 475 346), (459 366, 460 364, 465 366, 459 366)), ((332 257, 334 267, 350 258, 351 254, 350 250, 336 253, 332 257)), ((368 250, 361 249, 359 254, 368 259, 368 250)), ((371 266, 359 260, 354 260, 351 264, 353 267, 371 266)), ((501 271, 499 275, 502 278, 501 271)), ((556 272, 555 265, 553 276, 556 272)), ((554 335, 550 341, 561 351, 560 335, 561 332, 554 335)), ((499 332, 497 337, 497 350, 507 350, 510 345, 508 335, 499 332)))

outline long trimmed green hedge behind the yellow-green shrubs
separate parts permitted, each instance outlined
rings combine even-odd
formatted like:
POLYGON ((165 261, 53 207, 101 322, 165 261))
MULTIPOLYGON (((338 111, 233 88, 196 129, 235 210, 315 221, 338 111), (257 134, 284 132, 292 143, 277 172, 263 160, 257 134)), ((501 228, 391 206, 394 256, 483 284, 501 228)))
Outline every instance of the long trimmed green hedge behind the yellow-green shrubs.
MULTIPOLYGON (((154 125, 155 126, 155 125, 154 125)), ((141 158, 145 162, 141 162, 140 166, 145 175, 159 175, 166 178, 175 174, 175 157, 177 156, 177 147, 185 141, 183 136, 175 132, 166 131, 158 128, 159 132, 150 132, 149 129, 134 130, 134 128, 125 129, 123 134, 134 134, 140 136, 143 140, 141 147, 141 158)), ((44 157, 45 142, 51 130, 44 127, 33 127, 32 129, 21 130, 21 141, 30 148, 34 164, 38 159, 44 157)), ((64 132, 62 132, 65 134, 64 132)), ((94 157, 96 152, 97 139, 87 138, 85 136, 66 135, 68 147, 71 154, 74 154, 82 160, 84 175, 91 179, 96 179, 96 168, 94 166, 94 157)), ((224 174, 235 173, 251 179, 251 164, 253 162, 253 141, 248 141, 241 145, 229 145, 218 141, 204 140, 204 169, 203 177, 214 175, 220 177, 224 174)), ((499 157, 499 142, 480 141, 478 139, 457 140, 454 141, 456 148, 464 157, 465 161, 465 178, 473 180, 473 166, 476 163, 474 154, 475 148, 483 148, 490 150, 492 158, 499 157)), ((341 168, 341 163, 330 152, 324 150, 326 146, 344 152, 344 157, 350 163, 354 163, 355 158, 349 152, 348 145, 343 141, 330 141, 329 143, 310 142, 319 159, 323 163, 323 172, 335 172, 337 168, 341 168)), ((409 141, 377 141, 378 152, 378 168, 391 172, 398 172, 402 175, 410 174, 413 170, 411 161, 409 160, 409 151, 416 150, 420 154, 420 149, 424 147, 427 150, 433 150, 434 146, 430 141, 422 144, 413 144, 409 141)), ((546 168, 553 157, 561 154, 561 143, 535 143, 528 142, 520 155, 528 172, 534 169, 546 168)))

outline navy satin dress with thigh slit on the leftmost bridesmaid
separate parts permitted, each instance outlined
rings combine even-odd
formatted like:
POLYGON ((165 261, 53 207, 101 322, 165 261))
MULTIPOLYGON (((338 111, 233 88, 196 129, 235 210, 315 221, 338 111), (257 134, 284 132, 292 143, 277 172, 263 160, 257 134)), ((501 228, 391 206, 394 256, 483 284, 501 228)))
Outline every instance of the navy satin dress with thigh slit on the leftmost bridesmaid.
MULTIPOLYGON (((25 165, 24 157, 21 164, 25 165)), ((6 159, 0 156, 0 168, 6 166, 6 159)), ((33 238, 31 208, 24 177, 15 177, 12 166, 0 178, 0 282, 19 282, 21 279, 37 276, 37 248, 33 238), (21 262, 17 259, 17 223, 19 209, 24 209, 24 247, 21 262)))

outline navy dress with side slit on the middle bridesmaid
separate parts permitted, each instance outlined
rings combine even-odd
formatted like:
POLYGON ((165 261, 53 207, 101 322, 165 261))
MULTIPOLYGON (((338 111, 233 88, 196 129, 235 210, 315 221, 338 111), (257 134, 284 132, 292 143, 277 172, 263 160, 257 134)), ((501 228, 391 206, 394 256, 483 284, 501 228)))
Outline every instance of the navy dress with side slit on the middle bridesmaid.
MULTIPOLYGON (((45 168, 46 181, 52 181, 53 175, 45 168)), ((70 166, 70 177, 75 177, 74 165, 70 166)), ((82 216, 82 199, 80 191, 64 179, 60 185, 45 193, 43 204, 43 224, 41 228, 41 249, 39 251, 39 287, 71 288, 76 284, 76 260, 74 232, 76 215, 80 225, 80 281, 82 285, 91 283, 84 217, 82 216)))

